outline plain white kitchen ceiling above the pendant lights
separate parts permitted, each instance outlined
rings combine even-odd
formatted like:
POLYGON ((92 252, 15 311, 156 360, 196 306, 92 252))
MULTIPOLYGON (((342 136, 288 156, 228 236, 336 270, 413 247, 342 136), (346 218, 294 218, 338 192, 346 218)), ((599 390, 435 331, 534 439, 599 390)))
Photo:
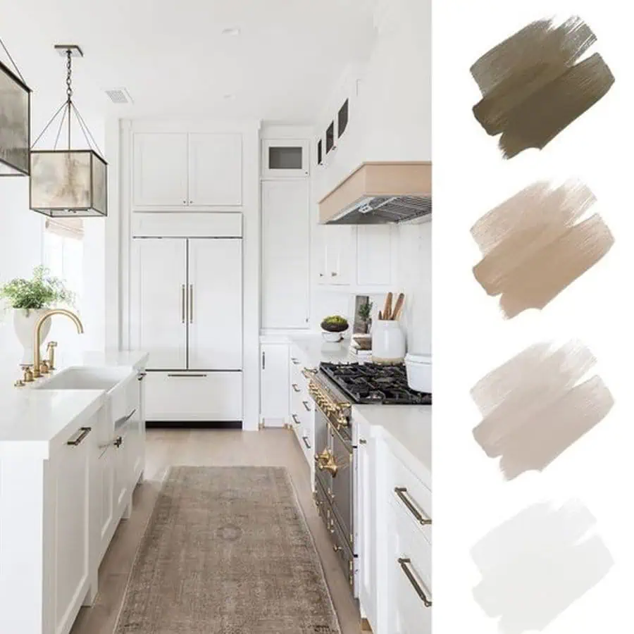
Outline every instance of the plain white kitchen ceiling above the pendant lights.
POLYGON ((311 123, 344 68, 368 58, 374 4, 0 0, 0 37, 34 90, 36 113, 46 102, 48 114, 65 98, 65 62, 53 49, 64 43, 84 50, 85 57, 73 64, 75 103, 91 116, 191 114, 311 123), (222 35, 230 27, 239 27, 240 35, 222 35), (110 104, 104 89, 113 87, 128 89, 135 104, 110 104))

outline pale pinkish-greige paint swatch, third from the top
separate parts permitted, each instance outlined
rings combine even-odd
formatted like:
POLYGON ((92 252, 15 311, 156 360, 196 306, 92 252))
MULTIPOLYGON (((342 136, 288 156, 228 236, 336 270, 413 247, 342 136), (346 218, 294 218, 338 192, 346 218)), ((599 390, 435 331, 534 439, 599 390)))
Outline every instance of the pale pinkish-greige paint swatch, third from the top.
POLYGON ((507 480, 542 471, 607 415, 614 399, 601 378, 578 383, 595 363, 579 342, 536 344, 473 387, 483 416, 473 437, 507 480))

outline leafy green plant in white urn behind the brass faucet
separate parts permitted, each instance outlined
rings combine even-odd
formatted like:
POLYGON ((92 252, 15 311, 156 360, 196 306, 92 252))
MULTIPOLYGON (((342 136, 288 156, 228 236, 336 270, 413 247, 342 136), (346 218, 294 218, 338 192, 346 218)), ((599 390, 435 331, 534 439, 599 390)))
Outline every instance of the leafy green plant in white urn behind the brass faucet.
MULTIPOLYGON (((49 275, 46 267, 36 266, 30 280, 15 278, 0 286, 0 299, 13 309, 13 328, 24 348, 22 363, 33 363, 33 332, 37 320, 54 306, 72 306, 75 296, 63 280, 49 275)), ((50 329, 49 321, 42 327, 42 340, 50 329)))

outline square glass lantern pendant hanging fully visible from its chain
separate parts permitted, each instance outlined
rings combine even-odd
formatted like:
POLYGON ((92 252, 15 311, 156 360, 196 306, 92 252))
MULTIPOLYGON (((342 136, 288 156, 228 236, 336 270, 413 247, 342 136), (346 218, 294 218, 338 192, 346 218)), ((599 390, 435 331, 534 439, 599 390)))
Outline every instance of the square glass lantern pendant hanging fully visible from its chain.
POLYGON ((85 121, 73 104, 73 57, 83 57, 75 44, 55 46, 66 57, 66 101, 35 139, 31 149, 30 208, 54 218, 107 216, 107 163, 101 156, 85 121), (82 131, 87 149, 73 149, 71 139, 73 116, 82 131), (33 149, 46 130, 59 118, 53 149, 33 149), (58 149, 66 123, 66 149, 58 149))

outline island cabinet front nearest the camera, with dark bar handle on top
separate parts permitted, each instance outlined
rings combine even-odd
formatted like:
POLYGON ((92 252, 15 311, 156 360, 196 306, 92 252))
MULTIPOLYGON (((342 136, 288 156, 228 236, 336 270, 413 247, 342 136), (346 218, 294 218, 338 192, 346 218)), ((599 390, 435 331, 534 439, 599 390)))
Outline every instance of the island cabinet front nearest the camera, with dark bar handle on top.
POLYGON ((51 456, 54 632, 68 632, 91 582, 90 493, 92 425, 79 428, 51 456))

